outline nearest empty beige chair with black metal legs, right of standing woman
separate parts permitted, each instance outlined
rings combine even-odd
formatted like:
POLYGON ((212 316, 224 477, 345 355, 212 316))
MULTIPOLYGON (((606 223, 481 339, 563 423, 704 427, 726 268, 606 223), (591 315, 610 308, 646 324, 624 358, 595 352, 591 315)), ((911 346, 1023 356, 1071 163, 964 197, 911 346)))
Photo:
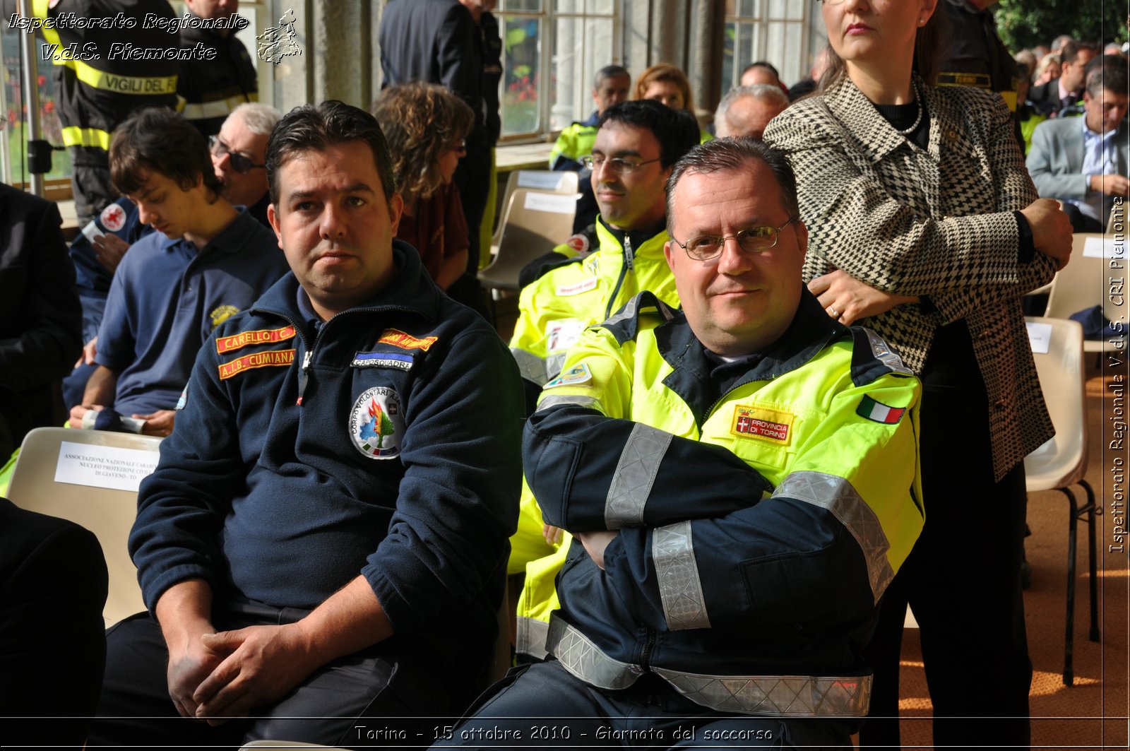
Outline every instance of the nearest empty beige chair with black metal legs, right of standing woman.
MULTIPOLYGON (((1071 264, 1075 264, 1072 259, 1071 264)), ((1090 633, 1098 641, 1098 584, 1095 562, 1095 516, 1103 512, 1095 503, 1095 491, 1084 478, 1087 473, 1087 400, 1084 386, 1083 327, 1058 318, 1027 318, 1029 326, 1051 326, 1046 353, 1033 352, 1044 402, 1051 414, 1055 435, 1024 459, 1026 489, 1029 493, 1055 490, 1067 497, 1067 636, 1063 646, 1063 684, 1075 682, 1075 559, 1077 525, 1087 523, 1090 567, 1090 633), (1083 487, 1087 502, 1079 506, 1072 485, 1083 487)))

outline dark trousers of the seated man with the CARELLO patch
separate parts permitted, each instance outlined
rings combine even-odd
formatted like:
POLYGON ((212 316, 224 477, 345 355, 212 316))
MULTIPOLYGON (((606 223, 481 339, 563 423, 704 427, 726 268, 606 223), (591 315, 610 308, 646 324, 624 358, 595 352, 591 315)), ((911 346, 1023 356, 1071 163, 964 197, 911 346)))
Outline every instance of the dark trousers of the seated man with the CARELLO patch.
MULTIPOLYGON (((232 630, 279 621, 226 614, 215 622, 217 629, 232 630)), ((88 748, 236 749, 258 740, 349 748, 374 744, 366 739, 374 728, 402 732, 403 746, 423 748, 435 740, 431 728, 450 723, 468 701, 466 689, 457 690, 464 685, 459 676, 393 638, 319 668, 279 701, 255 708, 253 717, 210 727, 181 717, 173 707, 168 650, 148 613, 112 627, 106 641, 106 675, 88 748)))

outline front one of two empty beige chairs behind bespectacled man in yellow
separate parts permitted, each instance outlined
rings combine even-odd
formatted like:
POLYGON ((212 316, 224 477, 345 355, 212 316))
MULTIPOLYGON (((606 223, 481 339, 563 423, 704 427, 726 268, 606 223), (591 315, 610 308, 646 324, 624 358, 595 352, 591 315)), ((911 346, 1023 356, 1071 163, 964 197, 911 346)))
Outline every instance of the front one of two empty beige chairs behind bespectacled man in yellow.
POLYGON ((573 232, 576 195, 544 193, 519 188, 510 197, 498 254, 479 271, 488 288, 518 290, 518 275, 533 259, 565 242, 573 232))

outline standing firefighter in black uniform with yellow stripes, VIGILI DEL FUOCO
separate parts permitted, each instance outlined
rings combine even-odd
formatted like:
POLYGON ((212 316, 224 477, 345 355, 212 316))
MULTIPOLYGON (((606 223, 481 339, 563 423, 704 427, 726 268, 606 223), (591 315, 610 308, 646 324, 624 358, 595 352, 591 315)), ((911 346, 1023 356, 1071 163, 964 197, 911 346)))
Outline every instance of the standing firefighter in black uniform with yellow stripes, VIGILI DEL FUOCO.
MULTIPOLYGON (((8 6, 6 3, 5 8, 8 6)), ((167 0, 33 0, 44 55, 55 66, 63 145, 79 226, 118 199, 110 135, 134 110, 176 106, 180 24, 167 0)))

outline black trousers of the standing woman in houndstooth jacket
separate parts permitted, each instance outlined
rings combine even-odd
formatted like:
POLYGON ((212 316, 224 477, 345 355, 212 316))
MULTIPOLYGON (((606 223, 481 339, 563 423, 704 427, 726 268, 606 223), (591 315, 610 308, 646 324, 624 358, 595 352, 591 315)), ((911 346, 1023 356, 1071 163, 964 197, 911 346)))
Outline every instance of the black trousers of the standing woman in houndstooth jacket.
POLYGON ((898 663, 910 603, 933 702, 935 744, 1027 748, 1024 465, 993 481, 983 385, 931 382, 930 365, 920 438, 925 527, 880 603, 866 653, 875 684, 860 746, 899 746, 898 663))

